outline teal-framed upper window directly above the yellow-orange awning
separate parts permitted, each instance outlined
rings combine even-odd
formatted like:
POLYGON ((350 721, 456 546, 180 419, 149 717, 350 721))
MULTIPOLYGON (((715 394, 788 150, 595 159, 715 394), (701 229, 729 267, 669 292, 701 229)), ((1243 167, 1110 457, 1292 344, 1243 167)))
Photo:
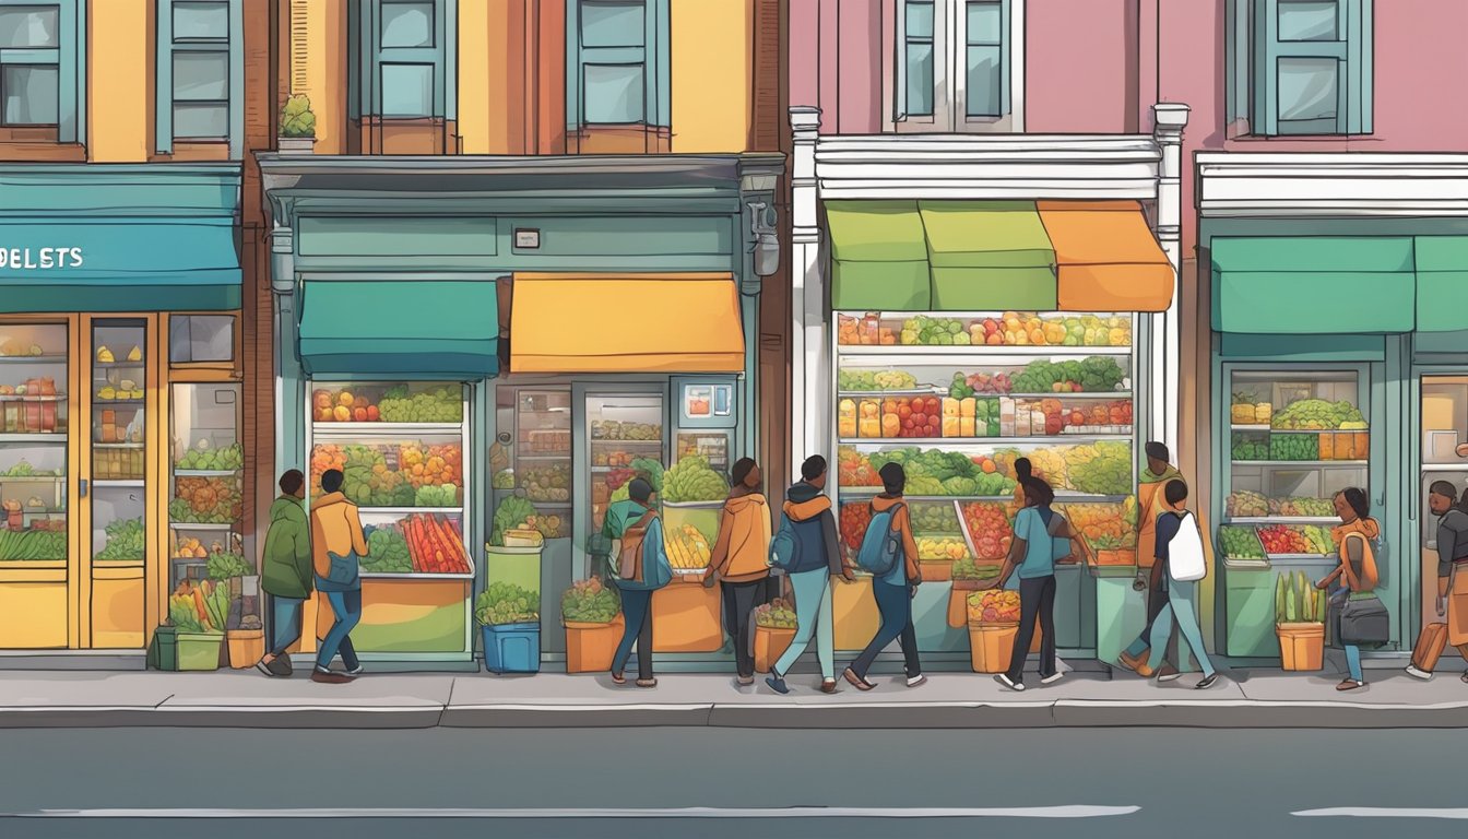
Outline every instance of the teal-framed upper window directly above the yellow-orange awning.
POLYGON ((567 123, 668 126, 668 0, 567 0, 567 123))

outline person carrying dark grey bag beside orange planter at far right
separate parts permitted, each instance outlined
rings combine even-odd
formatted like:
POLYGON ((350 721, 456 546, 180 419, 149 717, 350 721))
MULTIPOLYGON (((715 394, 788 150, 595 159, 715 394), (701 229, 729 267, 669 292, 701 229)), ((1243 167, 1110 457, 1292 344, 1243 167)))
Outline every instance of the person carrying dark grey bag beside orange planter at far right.
POLYGON ((1383 644, 1392 638, 1390 616, 1373 592, 1378 582, 1373 542, 1381 536, 1381 525, 1370 516, 1365 489, 1351 486, 1337 492, 1333 501, 1340 526, 1330 536, 1340 564, 1315 588, 1324 591, 1340 580, 1345 602, 1331 623, 1336 641, 1346 651, 1346 677, 1336 685, 1336 691, 1355 691, 1367 686, 1361 671, 1361 644, 1383 644))

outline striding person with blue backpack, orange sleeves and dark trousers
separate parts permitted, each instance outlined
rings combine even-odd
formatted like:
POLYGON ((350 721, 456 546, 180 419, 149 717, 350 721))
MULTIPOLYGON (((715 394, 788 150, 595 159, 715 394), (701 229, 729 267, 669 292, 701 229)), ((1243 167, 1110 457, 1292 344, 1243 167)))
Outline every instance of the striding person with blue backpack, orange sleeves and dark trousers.
POLYGON ((918 595, 922 576, 918 570, 918 542, 913 539, 912 514, 903 500, 907 488, 907 472, 897 463, 882 466, 882 494, 872 498, 872 520, 866 525, 862 548, 856 564, 872 575, 872 595, 882 623, 866 649, 846 669, 843 677, 857 691, 871 691, 876 685, 866 680, 866 671, 893 641, 903 648, 903 663, 907 686, 918 688, 928 682, 918 660, 918 630, 913 629, 912 598, 918 595))

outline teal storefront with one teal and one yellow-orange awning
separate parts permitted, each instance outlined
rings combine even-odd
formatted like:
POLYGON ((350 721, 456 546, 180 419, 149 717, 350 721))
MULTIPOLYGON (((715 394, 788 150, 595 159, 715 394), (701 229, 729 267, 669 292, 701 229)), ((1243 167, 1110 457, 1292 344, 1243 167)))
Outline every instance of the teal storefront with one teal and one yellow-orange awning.
MULTIPOLYGON (((272 156, 263 170, 276 455, 313 494, 344 469, 374 529, 358 649, 474 667, 476 599, 512 582, 559 667, 561 597, 593 573, 609 485, 633 460, 727 470, 755 451, 757 228, 782 159, 272 156), (539 575, 508 579, 486 542, 527 510, 539 575), (430 561, 423 547, 445 542, 430 561)), ((697 507, 669 505, 680 516, 697 507)))

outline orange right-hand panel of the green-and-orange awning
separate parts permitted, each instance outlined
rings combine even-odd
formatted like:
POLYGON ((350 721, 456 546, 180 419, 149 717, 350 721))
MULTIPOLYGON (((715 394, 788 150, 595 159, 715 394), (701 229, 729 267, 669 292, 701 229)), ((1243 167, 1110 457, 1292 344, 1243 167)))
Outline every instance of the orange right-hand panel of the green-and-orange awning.
POLYGON ((1063 312, 1166 312, 1173 266, 1136 201, 1036 201, 1063 312))

